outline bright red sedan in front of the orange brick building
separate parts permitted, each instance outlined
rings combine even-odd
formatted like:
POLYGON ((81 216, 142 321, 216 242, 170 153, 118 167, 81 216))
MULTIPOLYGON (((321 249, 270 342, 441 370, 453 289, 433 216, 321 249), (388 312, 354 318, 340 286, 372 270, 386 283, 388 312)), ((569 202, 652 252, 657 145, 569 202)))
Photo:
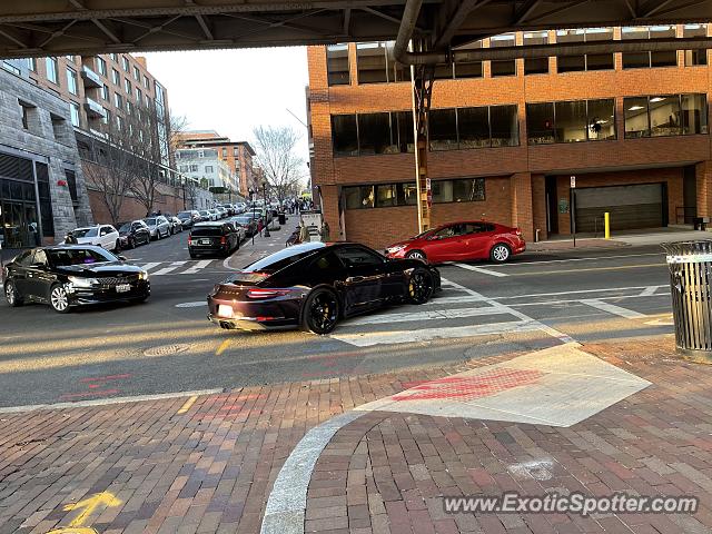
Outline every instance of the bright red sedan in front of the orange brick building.
POLYGON ((496 222, 459 221, 424 231, 386 248, 389 258, 417 258, 431 264, 490 259, 504 264, 526 250, 518 228, 496 222))

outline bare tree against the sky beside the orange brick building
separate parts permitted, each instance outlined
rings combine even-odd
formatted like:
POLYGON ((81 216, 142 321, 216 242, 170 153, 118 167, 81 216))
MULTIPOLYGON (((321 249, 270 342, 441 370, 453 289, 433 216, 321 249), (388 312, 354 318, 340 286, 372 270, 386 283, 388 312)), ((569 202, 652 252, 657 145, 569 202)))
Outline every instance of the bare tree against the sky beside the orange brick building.
POLYGON ((253 130, 256 139, 256 162, 270 189, 281 202, 304 179, 304 159, 297 155, 299 134, 289 127, 259 126, 253 130))

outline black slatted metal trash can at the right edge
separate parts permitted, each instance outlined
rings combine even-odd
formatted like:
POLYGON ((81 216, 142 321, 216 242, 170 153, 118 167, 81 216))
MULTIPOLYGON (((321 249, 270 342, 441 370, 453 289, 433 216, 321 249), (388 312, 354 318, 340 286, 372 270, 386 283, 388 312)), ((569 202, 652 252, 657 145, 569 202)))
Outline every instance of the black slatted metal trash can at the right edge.
POLYGON ((712 362, 712 240, 663 243, 678 350, 712 362))

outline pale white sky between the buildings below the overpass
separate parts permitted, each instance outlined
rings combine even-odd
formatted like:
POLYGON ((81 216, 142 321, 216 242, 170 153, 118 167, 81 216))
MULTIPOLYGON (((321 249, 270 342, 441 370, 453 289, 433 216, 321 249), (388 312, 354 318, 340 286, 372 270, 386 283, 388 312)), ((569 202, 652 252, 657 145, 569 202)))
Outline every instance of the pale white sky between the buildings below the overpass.
POLYGON ((216 130, 233 141, 253 142, 256 126, 289 126, 301 135, 298 154, 309 160, 304 47, 253 48, 144 55, 166 88, 174 115, 188 129, 216 130), (287 111, 289 109, 289 111, 287 111))

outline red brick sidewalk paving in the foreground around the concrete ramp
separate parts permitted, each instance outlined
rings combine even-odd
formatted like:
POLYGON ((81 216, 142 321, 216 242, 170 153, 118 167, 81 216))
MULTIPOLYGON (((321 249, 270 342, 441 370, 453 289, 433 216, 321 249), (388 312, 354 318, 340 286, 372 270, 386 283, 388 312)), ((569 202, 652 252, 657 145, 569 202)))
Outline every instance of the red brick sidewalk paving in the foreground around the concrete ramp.
MULTIPOLYGON (((583 348, 653 385, 568 428, 367 413, 320 454, 306 532, 711 532, 712 368, 678 359, 670 337, 583 348), (443 512, 444 495, 552 488, 690 494, 701 510, 587 518, 443 512)), ((198 398, 0 413, 0 533, 70 525, 259 532, 271 485, 308 429, 413 384, 514 356, 198 398), (83 515, 81 506, 65 510, 98 494, 120 504, 83 515)))

